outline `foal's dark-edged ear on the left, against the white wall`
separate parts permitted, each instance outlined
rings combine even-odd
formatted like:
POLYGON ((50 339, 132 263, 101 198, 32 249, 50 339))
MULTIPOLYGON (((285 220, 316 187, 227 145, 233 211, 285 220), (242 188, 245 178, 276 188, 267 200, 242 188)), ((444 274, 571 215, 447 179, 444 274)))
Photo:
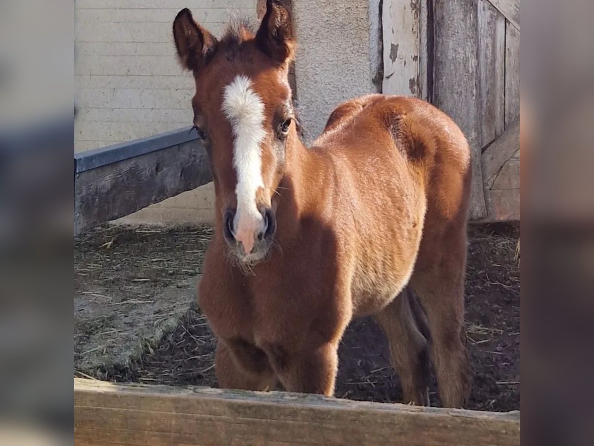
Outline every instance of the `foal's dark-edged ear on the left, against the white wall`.
POLYGON ((178 50, 179 62, 187 70, 198 70, 214 53, 217 40, 198 25, 192 12, 185 8, 173 20, 173 40, 178 50))

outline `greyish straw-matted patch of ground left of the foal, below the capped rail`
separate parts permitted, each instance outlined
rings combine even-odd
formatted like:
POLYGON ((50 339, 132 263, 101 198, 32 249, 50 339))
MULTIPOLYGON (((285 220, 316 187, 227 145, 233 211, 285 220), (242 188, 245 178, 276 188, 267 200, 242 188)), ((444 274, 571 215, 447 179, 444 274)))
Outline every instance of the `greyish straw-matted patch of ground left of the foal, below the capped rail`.
POLYGON ((81 372, 140 357, 175 329, 188 310, 188 294, 194 296, 211 235, 211 227, 104 225, 75 238, 75 364, 81 372))

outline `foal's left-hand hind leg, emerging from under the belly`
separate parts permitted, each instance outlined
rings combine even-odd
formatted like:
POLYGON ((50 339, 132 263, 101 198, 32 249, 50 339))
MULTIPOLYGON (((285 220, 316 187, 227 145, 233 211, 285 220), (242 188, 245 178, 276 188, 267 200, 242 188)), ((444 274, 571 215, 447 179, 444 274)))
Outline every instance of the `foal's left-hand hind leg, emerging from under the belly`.
POLYGON ((375 320, 388 338, 391 364, 402 384, 403 402, 429 406, 428 340, 423 322, 412 307, 413 299, 412 291, 405 288, 375 315, 375 320))

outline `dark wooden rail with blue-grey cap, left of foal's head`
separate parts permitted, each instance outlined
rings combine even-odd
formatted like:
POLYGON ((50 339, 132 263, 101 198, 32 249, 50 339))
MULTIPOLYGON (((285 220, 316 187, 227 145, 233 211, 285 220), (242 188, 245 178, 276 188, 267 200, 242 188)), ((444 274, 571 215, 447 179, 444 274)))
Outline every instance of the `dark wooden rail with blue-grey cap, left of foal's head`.
POLYGON ((191 128, 74 156, 74 234, 211 181, 191 128))

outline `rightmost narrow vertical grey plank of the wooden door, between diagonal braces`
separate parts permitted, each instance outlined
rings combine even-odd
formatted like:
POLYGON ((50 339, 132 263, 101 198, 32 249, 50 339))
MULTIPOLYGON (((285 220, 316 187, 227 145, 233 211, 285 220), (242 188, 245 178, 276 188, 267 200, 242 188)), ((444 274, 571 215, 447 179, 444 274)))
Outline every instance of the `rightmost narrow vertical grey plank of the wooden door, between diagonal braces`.
POLYGON ((520 31, 505 27, 505 127, 520 115, 520 31))

